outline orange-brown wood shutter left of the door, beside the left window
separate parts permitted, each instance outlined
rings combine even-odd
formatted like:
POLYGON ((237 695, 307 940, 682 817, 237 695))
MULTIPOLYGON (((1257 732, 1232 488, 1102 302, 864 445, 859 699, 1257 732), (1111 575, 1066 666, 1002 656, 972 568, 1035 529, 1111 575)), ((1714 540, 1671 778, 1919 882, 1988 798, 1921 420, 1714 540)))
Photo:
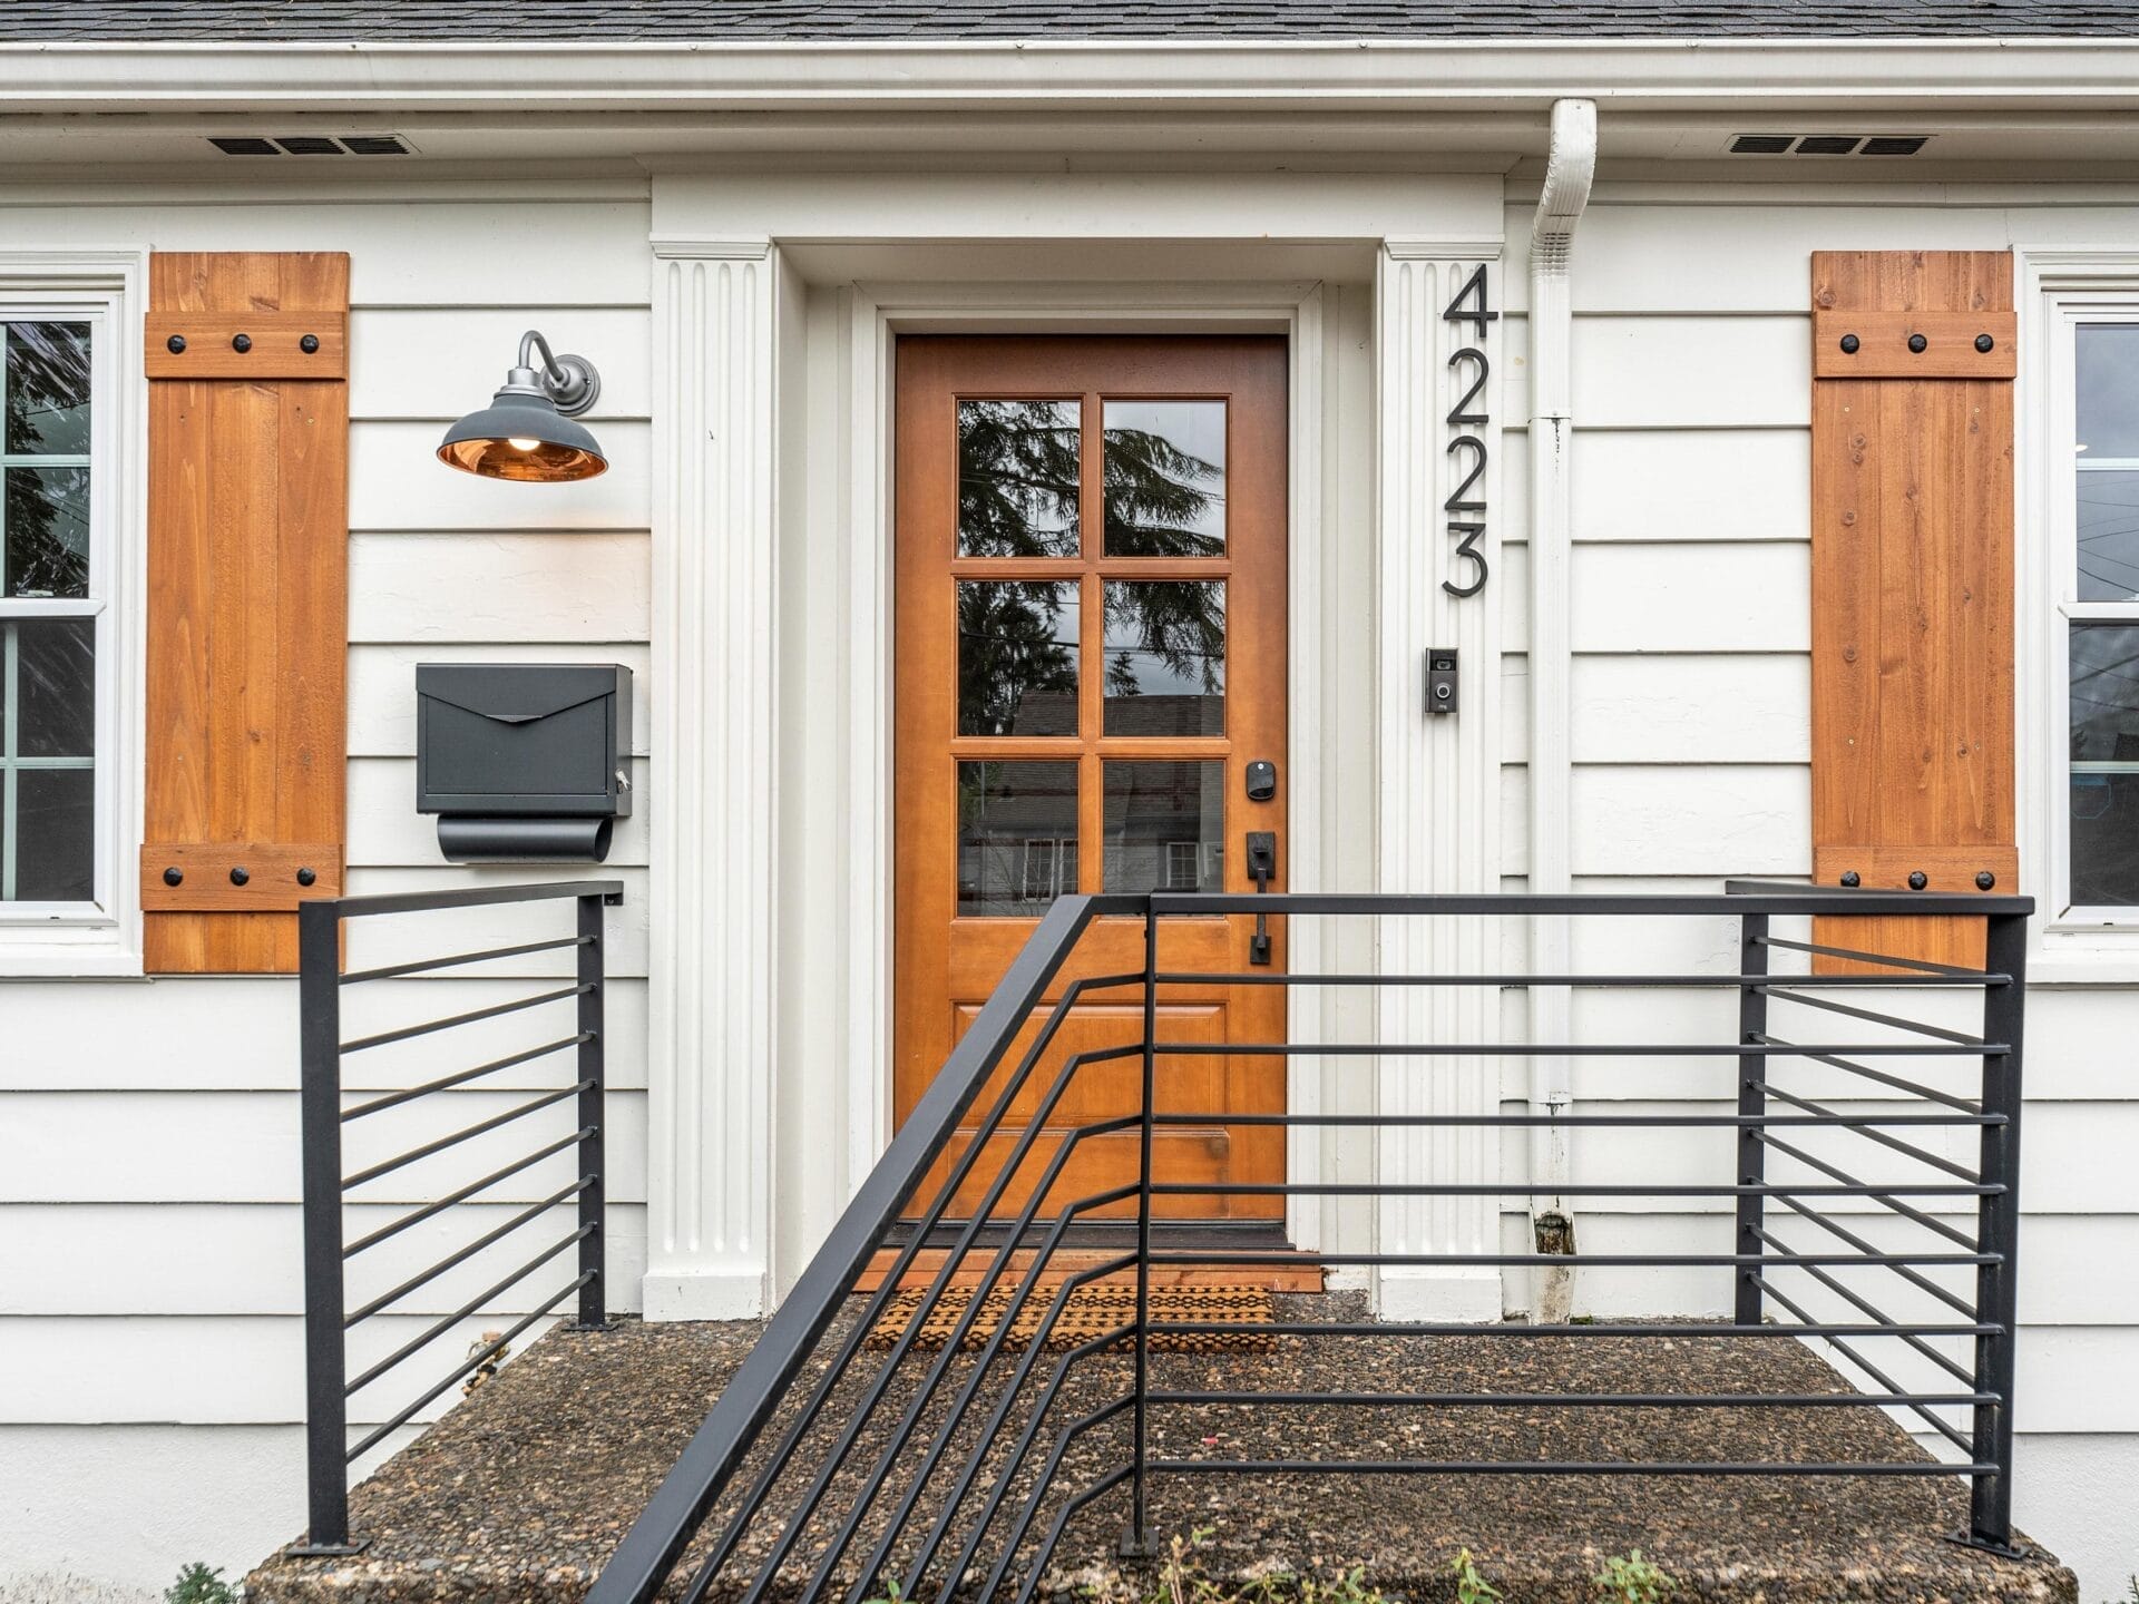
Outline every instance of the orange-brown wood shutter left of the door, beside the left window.
POLYGON ((289 973, 342 890, 349 257, 152 257, 148 381, 145 960, 289 973))

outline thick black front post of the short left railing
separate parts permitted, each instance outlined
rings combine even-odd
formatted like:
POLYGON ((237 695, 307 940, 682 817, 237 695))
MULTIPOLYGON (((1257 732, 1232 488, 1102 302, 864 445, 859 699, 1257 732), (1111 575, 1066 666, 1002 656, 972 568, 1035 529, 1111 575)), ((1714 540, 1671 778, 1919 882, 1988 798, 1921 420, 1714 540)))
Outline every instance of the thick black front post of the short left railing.
POLYGON ((304 1168, 304 1459, 310 1521, 293 1555, 351 1555, 342 1345, 342 922, 297 905, 297 1119, 304 1168))

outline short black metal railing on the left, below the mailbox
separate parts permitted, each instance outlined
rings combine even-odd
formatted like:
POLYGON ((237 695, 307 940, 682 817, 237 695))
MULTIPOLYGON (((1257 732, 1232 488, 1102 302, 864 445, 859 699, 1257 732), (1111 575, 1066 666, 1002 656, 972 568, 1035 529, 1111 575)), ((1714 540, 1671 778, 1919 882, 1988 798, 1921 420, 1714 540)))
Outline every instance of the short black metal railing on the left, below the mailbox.
POLYGON ((432 1405, 456 1382, 494 1362, 528 1326, 556 1311, 560 1302, 575 1294, 578 1322, 582 1326, 603 1324, 605 1119, 601 1104, 605 1071, 601 1005, 605 965, 601 909, 605 903, 618 900, 622 900, 620 881, 563 881, 548 885, 413 892, 404 896, 334 896, 308 900, 297 907, 297 999, 304 1069, 299 1116, 304 1125, 306 1493, 310 1527, 304 1542, 291 1548, 293 1555, 357 1553, 364 1544, 353 1542, 349 1531, 349 1467, 415 1420, 421 1409, 432 1405), (558 900, 569 903, 575 911, 569 932, 475 952, 419 956, 355 971, 344 971, 342 965, 344 926, 351 920, 558 900), (552 952, 571 954, 569 984, 528 982, 533 990, 498 1003, 438 1018, 396 1022, 389 1029, 368 1031, 353 1039, 342 1037, 342 999, 351 986, 415 975, 445 975, 447 971, 460 971, 466 977, 471 969, 475 969, 475 977, 496 975, 494 965, 552 952), (486 965, 490 969, 483 969, 486 965), (554 1037, 543 1029, 539 1033, 541 1039, 533 1046, 522 1046, 447 1074, 432 1074, 417 1084, 391 1091, 379 1089, 374 1082, 364 1093, 357 1093, 344 1084, 342 1069, 353 1054, 372 1054, 398 1044, 428 1042, 438 1033, 453 1033, 509 1016, 541 1020, 548 1018, 550 1007, 569 1007, 571 1027, 560 1027, 560 1033, 554 1037), (424 1127, 426 1140, 419 1140, 415 1146, 370 1159, 355 1172, 344 1170, 342 1136, 351 1125, 370 1121, 394 1108, 417 1106, 443 1093, 481 1091, 481 1082, 490 1076, 556 1059, 571 1065, 569 1084, 535 1091, 524 1101, 460 1129, 428 1136, 428 1127, 424 1127), (560 1110, 560 1119, 552 1123, 565 1125, 565 1133, 545 1129, 541 1121, 533 1125, 522 1123, 541 1110, 560 1110), (347 1206, 370 1200, 406 1202, 379 1198, 376 1189, 364 1193, 364 1187, 387 1176, 404 1176, 411 1166, 424 1159, 451 1153, 464 1142, 477 1142, 496 1133, 526 1136, 528 1146, 490 1174, 453 1185, 426 1202, 413 1202, 406 1213, 389 1217, 355 1240, 349 1238, 344 1230, 347 1206), (434 1264, 366 1298, 355 1309, 349 1307, 344 1268, 351 1260, 394 1240, 415 1225, 445 1217, 447 1210, 460 1204, 483 1206, 492 1200, 486 1193, 505 1181, 518 1176, 526 1185, 530 1176, 539 1174, 537 1166, 545 1159, 569 1163, 571 1183, 550 1189, 548 1196, 528 1200, 526 1206, 492 1230, 481 1232, 434 1264), (357 1375, 349 1373, 349 1330, 374 1315, 396 1311, 417 1290, 432 1285, 438 1277, 475 1260, 501 1240, 548 1219, 558 1208, 575 1210, 575 1223, 567 1236, 545 1245, 541 1253, 468 1296, 451 1313, 426 1322, 409 1341, 366 1364, 357 1375), (539 1302, 520 1315, 511 1328, 496 1337, 486 1332, 486 1341, 479 1341, 471 1352, 456 1358, 441 1379, 424 1384, 413 1401, 374 1422, 361 1437, 351 1441, 349 1401, 357 1392, 398 1371, 432 1343, 460 1328, 471 1315, 490 1309, 522 1281, 543 1266, 556 1264, 567 1253, 573 1253, 567 1260, 567 1268, 573 1275, 563 1287, 548 1294, 533 1294, 539 1302))

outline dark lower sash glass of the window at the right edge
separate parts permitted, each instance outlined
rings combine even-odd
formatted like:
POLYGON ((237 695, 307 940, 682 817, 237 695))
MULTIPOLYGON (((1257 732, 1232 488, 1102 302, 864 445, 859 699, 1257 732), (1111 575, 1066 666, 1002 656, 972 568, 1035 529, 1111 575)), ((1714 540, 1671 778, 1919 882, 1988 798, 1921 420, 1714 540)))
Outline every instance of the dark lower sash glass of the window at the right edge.
POLYGON ((2139 905, 2139 624, 2073 627, 2073 903, 2139 905))

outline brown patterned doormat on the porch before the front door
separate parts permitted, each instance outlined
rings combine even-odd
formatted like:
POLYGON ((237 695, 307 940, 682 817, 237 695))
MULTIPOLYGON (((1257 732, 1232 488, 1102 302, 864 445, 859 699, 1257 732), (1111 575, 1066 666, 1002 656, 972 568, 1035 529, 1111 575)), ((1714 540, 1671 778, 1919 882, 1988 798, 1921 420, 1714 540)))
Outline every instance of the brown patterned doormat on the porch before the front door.
MULTIPOLYGON (((924 1290, 920 1287, 894 1292, 890 1302, 883 1305, 877 1324, 868 1330, 868 1347, 879 1354, 894 1347, 901 1335, 905 1335, 907 1322, 913 1320, 913 1311, 920 1309, 922 1296, 924 1290)), ((1003 1324, 1010 1298, 1012 1292, 997 1287, 980 1300, 980 1315, 958 1341, 960 1354, 978 1354, 988 1345, 988 1337, 1003 1324)), ((1040 1322, 1046 1320, 1048 1309, 1055 1307, 1055 1287, 1033 1290, 1025 1298, 1025 1307, 1018 1309, 1018 1317, 1010 1322, 1005 1347, 1012 1352, 1022 1349, 1033 1339, 1033 1332, 1040 1330, 1040 1322)), ((913 1345, 928 1352, 941 1349, 971 1300, 971 1287, 945 1287, 935 1309, 922 1320, 913 1345)), ((1266 1330, 1166 1330, 1170 1324, 1268 1326, 1275 1313, 1268 1287, 1151 1287, 1149 1307, 1151 1347, 1155 1352, 1264 1354, 1277 1343, 1275 1335, 1266 1330)), ((1134 1285, 1078 1287, 1055 1317, 1042 1347, 1048 1354, 1063 1354, 1078 1343, 1089 1343, 1093 1337, 1104 1337, 1129 1324, 1136 1324, 1134 1285)))

